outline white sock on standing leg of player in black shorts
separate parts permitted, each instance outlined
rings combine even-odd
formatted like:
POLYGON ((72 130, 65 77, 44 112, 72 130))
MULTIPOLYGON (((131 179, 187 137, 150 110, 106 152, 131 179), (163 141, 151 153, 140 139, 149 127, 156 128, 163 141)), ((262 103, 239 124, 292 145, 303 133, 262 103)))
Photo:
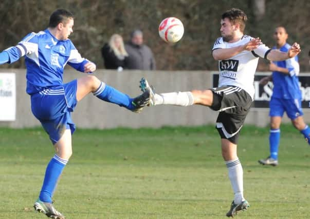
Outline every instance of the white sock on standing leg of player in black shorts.
POLYGON ((241 204, 243 197, 243 169, 239 158, 233 161, 226 161, 229 180, 234 192, 234 204, 241 204))

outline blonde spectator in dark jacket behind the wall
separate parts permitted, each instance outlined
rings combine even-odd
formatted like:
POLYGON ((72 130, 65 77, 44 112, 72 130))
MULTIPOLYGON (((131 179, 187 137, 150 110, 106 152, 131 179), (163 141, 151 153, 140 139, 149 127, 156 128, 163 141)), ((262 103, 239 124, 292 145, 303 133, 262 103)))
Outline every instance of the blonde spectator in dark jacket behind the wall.
POLYGON ((104 60, 106 69, 123 70, 125 65, 125 58, 128 56, 124 48, 123 38, 119 34, 113 34, 110 42, 104 44, 101 49, 101 54, 104 60))

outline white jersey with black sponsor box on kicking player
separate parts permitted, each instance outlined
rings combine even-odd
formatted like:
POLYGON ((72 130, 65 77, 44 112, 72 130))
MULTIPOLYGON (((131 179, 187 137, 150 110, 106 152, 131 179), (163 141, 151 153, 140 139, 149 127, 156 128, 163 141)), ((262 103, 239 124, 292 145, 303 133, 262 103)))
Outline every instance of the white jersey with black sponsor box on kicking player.
MULTIPOLYGON (((223 41, 223 37, 216 39, 212 51, 215 49, 226 49, 247 44, 252 37, 243 35, 243 37, 235 42, 228 43, 223 41)), ((218 87, 236 86, 245 90, 253 99, 254 96, 254 74, 257 68, 259 57, 266 58, 270 52, 270 48, 261 44, 257 49, 252 51, 242 51, 230 59, 218 61, 218 69, 220 77, 218 79, 218 87)))

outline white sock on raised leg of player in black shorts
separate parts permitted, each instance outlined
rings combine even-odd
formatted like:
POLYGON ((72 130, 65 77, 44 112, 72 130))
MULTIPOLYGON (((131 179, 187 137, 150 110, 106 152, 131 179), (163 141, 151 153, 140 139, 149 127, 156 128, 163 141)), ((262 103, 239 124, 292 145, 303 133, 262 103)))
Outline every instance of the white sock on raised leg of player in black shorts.
POLYGON ((192 92, 172 92, 155 94, 154 105, 176 105, 176 106, 190 106, 194 104, 194 96, 192 92))

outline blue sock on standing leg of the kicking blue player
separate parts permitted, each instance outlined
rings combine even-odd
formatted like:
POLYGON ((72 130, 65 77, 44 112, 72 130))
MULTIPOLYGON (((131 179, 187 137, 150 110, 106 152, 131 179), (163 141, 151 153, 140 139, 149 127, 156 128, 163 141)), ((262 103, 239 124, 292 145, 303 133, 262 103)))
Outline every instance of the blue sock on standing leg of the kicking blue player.
POLYGON ((58 178, 61 175, 62 170, 66 166, 67 162, 67 160, 62 159, 55 154, 48 163, 46 167, 43 186, 39 196, 42 202, 52 202, 51 197, 57 186, 58 178))

